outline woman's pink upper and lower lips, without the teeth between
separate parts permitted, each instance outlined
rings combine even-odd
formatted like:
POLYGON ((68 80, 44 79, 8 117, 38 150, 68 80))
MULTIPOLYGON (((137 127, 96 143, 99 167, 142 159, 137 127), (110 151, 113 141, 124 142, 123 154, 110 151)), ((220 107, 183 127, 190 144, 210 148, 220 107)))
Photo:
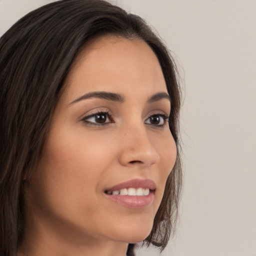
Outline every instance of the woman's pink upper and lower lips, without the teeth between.
POLYGON ((114 201, 117 204, 128 208, 144 208, 150 204, 152 204, 154 199, 154 190, 156 188, 155 183, 151 179, 131 179, 112 187, 105 189, 104 195, 114 201), (106 191, 120 190, 122 188, 149 188, 148 195, 120 195, 120 194, 107 194, 106 191))

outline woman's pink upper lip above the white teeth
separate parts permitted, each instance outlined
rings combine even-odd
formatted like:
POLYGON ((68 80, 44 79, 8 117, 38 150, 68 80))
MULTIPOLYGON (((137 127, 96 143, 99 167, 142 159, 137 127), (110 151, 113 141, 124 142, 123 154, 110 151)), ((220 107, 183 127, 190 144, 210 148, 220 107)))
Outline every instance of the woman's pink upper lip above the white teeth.
POLYGON ((113 190, 120 190, 122 188, 128 188, 128 187, 134 187, 134 188, 149 188, 150 190, 154 190, 156 188, 156 185, 153 180, 151 179, 131 179, 124 182, 121 182, 119 184, 116 184, 114 186, 108 187, 105 189, 105 191, 113 191, 113 190))

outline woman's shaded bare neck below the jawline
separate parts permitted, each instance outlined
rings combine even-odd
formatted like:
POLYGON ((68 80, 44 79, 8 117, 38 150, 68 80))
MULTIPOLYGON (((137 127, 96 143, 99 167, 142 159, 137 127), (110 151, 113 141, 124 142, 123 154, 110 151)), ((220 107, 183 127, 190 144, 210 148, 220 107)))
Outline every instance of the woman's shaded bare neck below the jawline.
POLYGON ((56 232, 54 228, 26 224, 23 239, 18 247, 18 256, 126 256, 128 244, 105 238, 74 235, 71 232, 56 232))

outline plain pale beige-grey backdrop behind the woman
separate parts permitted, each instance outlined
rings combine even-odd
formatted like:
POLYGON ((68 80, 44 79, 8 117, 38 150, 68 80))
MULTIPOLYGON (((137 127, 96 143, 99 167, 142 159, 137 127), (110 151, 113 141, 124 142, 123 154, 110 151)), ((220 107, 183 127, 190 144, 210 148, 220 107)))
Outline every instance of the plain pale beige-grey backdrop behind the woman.
MULTIPOLYGON (((0 34, 47 2, 0 0, 0 34)), ((111 2, 152 24, 180 68, 184 188, 162 255, 256 256, 256 0, 111 2)))

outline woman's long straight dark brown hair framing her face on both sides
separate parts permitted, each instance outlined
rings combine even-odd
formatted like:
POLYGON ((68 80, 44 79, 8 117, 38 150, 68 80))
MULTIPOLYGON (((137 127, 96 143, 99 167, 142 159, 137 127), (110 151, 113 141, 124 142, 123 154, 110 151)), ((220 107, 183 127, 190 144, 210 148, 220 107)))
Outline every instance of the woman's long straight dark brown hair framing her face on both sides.
MULTIPOLYGON (((174 233, 181 187, 180 89, 173 59, 139 16, 104 0, 60 0, 31 11, 0 37, 0 255, 16 255, 23 233, 23 177, 29 179, 70 66, 86 42, 113 34, 140 38, 154 51, 171 98, 177 145, 153 228, 144 244, 162 250, 174 233)), ((128 255, 133 255, 133 244, 128 255)))

